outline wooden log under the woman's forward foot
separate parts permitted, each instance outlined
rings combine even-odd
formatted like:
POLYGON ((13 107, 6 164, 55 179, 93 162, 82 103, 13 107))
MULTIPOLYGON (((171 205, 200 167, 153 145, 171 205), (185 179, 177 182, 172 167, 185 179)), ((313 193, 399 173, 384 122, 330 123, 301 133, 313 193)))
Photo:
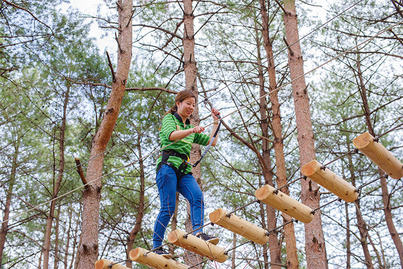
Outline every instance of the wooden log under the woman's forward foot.
POLYGON ((170 232, 167 238, 169 243, 208 257, 211 260, 224 262, 228 258, 228 256, 224 254, 225 250, 222 247, 206 242, 191 234, 184 237, 185 234, 184 231, 177 229, 170 232))

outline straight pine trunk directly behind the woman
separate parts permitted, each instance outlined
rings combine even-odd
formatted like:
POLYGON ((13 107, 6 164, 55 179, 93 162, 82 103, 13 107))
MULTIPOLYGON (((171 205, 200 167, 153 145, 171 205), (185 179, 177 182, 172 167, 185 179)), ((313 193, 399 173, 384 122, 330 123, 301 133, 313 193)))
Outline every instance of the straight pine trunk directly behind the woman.
MULTIPOLYGON (((192 0, 184 0, 183 1, 183 21, 184 21, 184 37, 182 39, 183 43, 183 59, 184 59, 184 71, 185 71, 185 84, 186 90, 192 91, 196 95, 196 103, 198 102, 198 91, 197 91, 197 83, 196 83, 196 61, 195 61, 195 37, 194 37, 194 28, 193 28, 193 4, 192 0)), ((189 118, 190 123, 194 126, 198 126, 200 123, 199 117, 199 108, 196 105, 194 112, 189 118)), ((190 154, 190 161, 191 163, 195 163, 200 158, 200 145, 193 145, 191 154, 190 154)), ((202 189, 201 184, 201 172, 200 172, 200 165, 194 167, 192 169, 193 176, 195 177, 197 183, 199 184, 200 188, 202 189)), ((190 204, 187 202, 186 206, 187 214, 186 214, 186 221, 185 227, 186 231, 190 232, 193 230, 192 222, 190 218, 190 204)), ((203 216, 204 217, 204 216, 203 216)), ((199 263, 201 260, 199 259, 197 254, 185 250, 185 255, 187 261, 185 262, 187 265, 193 266, 194 264, 199 263)), ((195 268, 200 268, 201 266, 196 266, 195 268)))

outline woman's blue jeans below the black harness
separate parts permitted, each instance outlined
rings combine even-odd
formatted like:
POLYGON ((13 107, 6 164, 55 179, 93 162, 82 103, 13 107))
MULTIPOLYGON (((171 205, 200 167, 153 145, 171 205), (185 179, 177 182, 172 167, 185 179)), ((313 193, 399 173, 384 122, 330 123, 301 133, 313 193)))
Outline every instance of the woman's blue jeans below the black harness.
POLYGON ((188 174, 178 181, 175 170, 167 165, 162 165, 157 172, 156 182, 161 208, 154 225, 152 248, 162 245, 166 227, 175 211, 177 192, 182 194, 190 203, 192 226, 193 230, 196 230, 193 234, 203 232, 203 229, 200 229, 204 220, 203 193, 195 178, 188 174))

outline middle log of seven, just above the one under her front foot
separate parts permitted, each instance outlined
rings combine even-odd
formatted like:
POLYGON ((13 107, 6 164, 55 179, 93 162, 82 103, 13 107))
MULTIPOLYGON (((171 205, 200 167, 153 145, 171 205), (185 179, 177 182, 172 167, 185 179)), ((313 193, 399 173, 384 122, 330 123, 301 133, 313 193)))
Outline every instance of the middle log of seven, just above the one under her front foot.
POLYGON ((228 213, 225 209, 218 208, 209 214, 210 221, 255 243, 263 245, 269 241, 266 230, 235 214, 231 214, 228 218, 226 216, 228 213))

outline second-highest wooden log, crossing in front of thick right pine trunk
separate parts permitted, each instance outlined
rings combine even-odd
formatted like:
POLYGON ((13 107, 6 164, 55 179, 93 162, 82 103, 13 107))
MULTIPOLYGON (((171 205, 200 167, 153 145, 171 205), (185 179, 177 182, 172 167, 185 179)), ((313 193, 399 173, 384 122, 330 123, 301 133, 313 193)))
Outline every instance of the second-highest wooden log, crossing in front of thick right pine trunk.
POLYGON ((346 180, 334 174, 330 169, 321 169, 322 164, 317 160, 312 160, 301 168, 302 174, 334 193, 346 202, 354 202, 358 193, 356 188, 346 180))

